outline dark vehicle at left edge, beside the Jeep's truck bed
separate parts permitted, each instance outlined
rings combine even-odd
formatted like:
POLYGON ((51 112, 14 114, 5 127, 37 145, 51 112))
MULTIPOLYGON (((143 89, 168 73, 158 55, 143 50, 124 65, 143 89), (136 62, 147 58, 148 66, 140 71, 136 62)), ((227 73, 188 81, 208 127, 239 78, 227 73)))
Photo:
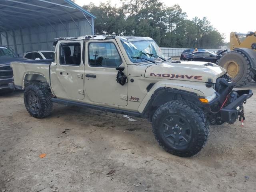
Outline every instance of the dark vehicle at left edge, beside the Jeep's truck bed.
POLYGON ((10 89, 8 83, 12 82, 12 68, 10 63, 13 61, 24 61, 26 59, 19 58, 12 50, 6 46, 0 46, 0 91, 10 89))

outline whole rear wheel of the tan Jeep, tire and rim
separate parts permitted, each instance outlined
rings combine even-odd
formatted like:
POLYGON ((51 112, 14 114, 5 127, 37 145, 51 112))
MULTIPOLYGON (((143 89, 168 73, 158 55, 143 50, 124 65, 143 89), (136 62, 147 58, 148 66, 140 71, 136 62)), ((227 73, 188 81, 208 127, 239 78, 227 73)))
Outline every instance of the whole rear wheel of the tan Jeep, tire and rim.
POLYGON ((44 118, 52 112, 51 90, 48 84, 31 84, 24 92, 24 104, 35 118, 44 118))

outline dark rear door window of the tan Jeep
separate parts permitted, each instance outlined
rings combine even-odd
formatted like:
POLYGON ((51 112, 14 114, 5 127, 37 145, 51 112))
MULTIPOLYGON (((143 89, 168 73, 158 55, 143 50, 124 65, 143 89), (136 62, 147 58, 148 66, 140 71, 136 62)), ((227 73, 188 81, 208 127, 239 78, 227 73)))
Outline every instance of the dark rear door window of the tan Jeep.
POLYGON ((60 64, 79 66, 81 63, 80 43, 60 44, 60 64))

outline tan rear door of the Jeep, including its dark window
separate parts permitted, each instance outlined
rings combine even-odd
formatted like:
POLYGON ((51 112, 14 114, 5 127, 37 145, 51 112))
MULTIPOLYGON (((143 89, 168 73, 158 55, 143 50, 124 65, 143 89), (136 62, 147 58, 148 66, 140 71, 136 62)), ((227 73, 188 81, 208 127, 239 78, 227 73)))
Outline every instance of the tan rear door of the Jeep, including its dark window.
POLYGON ((51 66, 52 89, 58 98, 84 99, 82 46, 80 42, 58 44, 57 65, 51 66))

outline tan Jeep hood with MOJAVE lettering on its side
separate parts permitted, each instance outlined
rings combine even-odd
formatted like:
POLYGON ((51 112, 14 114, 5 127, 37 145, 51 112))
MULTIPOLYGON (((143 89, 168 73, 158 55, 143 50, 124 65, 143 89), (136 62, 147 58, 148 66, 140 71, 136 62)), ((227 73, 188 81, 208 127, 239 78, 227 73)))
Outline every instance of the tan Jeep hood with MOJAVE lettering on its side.
POLYGON ((146 68, 145 77, 184 81, 208 82, 226 74, 224 68, 209 62, 174 61, 155 64, 146 68))

